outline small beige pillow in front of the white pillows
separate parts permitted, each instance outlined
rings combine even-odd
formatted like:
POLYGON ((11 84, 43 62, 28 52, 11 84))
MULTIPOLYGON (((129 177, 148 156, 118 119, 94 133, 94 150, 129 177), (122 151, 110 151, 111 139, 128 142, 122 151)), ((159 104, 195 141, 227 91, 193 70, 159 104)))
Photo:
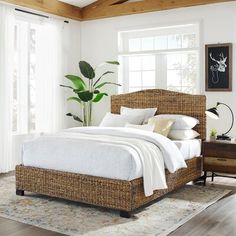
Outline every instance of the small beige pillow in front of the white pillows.
POLYGON ((150 118, 148 124, 154 125, 154 132, 163 136, 168 136, 175 120, 150 118))

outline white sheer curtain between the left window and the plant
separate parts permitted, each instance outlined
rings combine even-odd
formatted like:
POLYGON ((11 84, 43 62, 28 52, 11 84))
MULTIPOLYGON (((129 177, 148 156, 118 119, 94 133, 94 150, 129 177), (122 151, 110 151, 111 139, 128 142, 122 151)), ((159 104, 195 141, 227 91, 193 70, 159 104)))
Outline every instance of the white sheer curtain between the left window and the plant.
POLYGON ((66 127, 64 82, 66 24, 48 19, 37 35, 36 130, 53 133, 66 127))

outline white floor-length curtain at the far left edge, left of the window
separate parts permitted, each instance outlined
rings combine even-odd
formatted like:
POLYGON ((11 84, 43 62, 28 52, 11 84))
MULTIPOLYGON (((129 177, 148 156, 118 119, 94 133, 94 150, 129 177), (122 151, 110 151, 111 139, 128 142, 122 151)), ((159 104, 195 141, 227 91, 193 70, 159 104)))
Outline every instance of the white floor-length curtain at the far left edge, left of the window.
POLYGON ((13 167, 12 81, 14 64, 14 9, 0 4, 0 173, 13 167))

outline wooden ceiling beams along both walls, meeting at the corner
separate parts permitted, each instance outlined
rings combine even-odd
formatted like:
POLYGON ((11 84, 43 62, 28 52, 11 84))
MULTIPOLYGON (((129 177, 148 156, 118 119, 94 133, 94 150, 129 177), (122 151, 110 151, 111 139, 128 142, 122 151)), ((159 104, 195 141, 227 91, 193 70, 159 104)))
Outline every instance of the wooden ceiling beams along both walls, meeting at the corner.
POLYGON ((236 0, 97 0, 79 8, 58 0, 0 0, 79 21, 234 1, 236 0))

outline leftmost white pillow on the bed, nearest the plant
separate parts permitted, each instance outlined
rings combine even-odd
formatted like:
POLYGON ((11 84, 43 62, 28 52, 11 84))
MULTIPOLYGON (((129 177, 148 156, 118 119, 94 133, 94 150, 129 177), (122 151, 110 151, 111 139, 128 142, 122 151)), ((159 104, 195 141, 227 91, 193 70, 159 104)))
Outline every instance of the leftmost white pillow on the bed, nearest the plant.
POLYGON ((100 127, 125 127, 126 123, 141 125, 142 122, 143 116, 118 115, 108 112, 100 123, 100 127))

